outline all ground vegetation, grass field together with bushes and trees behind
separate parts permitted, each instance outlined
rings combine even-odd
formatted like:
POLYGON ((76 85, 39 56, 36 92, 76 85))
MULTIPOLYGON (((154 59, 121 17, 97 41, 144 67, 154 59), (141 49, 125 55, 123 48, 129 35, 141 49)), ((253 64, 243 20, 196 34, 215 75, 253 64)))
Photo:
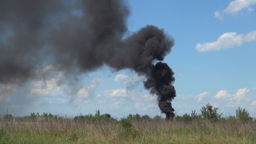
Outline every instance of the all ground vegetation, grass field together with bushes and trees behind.
POLYGON ((1 144, 111 144, 143 143, 256 143, 256 120, 242 108, 236 116, 222 117, 210 104, 201 113, 176 116, 165 120, 161 116, 128 115, 118 120, 110 114, 88 114, 75 117, 48 113, 31 113, 0 119, 1 144))

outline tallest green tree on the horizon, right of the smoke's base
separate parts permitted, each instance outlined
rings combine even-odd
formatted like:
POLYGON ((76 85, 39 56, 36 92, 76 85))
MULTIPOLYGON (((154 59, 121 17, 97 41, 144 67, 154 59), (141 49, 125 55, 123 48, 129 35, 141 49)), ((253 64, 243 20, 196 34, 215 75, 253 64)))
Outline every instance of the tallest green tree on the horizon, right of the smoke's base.
POLYGON ((219 108, 218 107, 213 107, 212 105, 210 105, 210 103, 206 104, 206 107, 203 106, 201 108, 201 113, 204 119, 209 119, 212 121, 218 121, 221 118, 221 114, 217 113, 217 110, 219 108))

